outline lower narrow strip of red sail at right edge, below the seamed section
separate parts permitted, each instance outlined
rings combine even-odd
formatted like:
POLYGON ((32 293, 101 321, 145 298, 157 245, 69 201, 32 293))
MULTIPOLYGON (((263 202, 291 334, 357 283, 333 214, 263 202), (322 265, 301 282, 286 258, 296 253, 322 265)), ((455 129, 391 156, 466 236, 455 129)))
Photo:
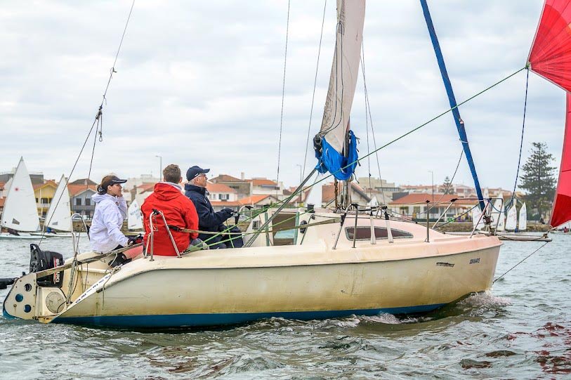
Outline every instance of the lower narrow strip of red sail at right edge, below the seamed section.
POLYGON ((553 227, 571 221, 571 94, 567 93, 567 118, 565 119, 565 136, 563 138, 563 153, 557 191, 551 210, 553 227))

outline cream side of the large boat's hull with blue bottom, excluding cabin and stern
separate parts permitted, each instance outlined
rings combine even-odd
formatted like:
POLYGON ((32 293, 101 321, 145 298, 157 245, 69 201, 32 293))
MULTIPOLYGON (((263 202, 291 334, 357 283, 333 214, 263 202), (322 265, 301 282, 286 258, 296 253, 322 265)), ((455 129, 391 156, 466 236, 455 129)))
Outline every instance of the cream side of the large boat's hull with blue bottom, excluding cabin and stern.
POLYGON ((181 268, 180 261, 192 257, 141 260, 53 322, 179 327, 271 316, 414 313, 489 289, 498 253, 499 245, 461 254, 366 261, 353 252, 354 260, 346 262, 268 267, 262 261, 259 267, 235 268, 181 268))

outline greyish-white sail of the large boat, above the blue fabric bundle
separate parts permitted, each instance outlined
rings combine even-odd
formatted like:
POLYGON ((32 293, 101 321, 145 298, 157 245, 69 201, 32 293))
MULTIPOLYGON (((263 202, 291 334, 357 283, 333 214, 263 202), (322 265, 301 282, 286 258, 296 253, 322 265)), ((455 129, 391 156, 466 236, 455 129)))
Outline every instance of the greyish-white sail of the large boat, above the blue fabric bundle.
POLYGON ((335 54, 320 136, 341 153, 359 75, 365 0, 337 0, 337 20, 335 54))

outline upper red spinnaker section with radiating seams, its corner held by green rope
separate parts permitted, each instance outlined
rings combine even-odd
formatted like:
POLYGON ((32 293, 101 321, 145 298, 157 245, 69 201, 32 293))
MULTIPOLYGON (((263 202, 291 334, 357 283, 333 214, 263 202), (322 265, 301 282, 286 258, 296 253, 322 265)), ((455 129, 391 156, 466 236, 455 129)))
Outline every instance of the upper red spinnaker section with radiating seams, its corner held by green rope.
POLYGON ((527 61, 531 70, 571 91, 571 1, 546 0, 527 61))

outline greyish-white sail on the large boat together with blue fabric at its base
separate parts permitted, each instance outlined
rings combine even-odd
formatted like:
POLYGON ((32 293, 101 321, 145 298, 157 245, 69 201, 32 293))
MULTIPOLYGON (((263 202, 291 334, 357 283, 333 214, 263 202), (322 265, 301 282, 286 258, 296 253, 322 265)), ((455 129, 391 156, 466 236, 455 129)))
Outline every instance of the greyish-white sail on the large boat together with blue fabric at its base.
POLYGON ((317 170, 348 180, 357 166, 357 138, 349 116, 359 74, 365 0, 337 0, 337 31, 320 132, 314 138, 317 170))

